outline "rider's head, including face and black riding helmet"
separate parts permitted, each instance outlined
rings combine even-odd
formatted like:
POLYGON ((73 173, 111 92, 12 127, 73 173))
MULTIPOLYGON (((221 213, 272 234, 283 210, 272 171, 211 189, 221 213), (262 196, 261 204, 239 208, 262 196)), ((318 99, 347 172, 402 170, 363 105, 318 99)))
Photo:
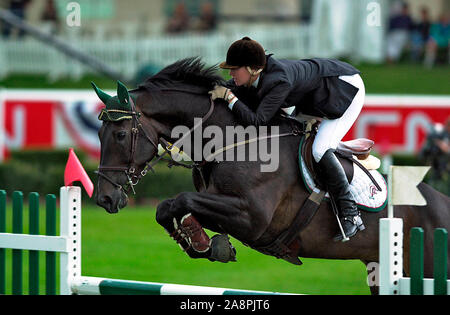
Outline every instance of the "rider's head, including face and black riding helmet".
POLYGON ((264 48, 257 41, 244 37, 231 44, 222 69, 230 69, 236 85, 250 85, 266 65, 264 48))

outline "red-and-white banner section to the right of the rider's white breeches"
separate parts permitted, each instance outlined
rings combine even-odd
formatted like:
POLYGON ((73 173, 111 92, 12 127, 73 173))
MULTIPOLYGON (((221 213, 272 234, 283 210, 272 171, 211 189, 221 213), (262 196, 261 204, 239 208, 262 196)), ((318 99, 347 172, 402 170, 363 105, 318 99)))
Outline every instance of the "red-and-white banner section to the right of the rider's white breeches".
POLYGON ((450 119, 450 97, 369 95, 344 140, 369 138, 381 153, 417 153, 430 128, 450 119))

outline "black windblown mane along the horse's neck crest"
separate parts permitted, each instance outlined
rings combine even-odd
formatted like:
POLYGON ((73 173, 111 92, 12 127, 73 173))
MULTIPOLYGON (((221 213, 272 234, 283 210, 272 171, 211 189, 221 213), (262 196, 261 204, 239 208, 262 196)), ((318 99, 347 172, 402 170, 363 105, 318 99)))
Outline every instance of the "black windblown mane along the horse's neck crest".
POLYGON ((206 67, 200 57, 191 57, 165 67, 141 83, 139 88, 173 87, 180 83, 212 90, 215 85, 223 85, 224 79, 219 75, 217 65, 206 67))

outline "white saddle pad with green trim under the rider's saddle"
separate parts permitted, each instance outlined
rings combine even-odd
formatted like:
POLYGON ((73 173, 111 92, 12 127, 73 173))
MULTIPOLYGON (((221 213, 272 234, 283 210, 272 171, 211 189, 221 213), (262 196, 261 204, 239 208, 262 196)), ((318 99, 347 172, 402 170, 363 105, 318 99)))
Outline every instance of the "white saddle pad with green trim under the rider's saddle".
MULTIPOLYGON (((316 188, 316 184, 306 167, 306 163, 303 160, 301 154, 300 157, 300 173, 302 175, 303 182, 306 189, 311 192, 316 188)), ((377 170, 369 170, 370 174, 376 180, 381 187, 381 191, 375 187, 370 178, 359 168, 359 166, 353 163, 354 175, 352 182, 350 183, 350 192, 358 205, 358 208, 364 211, 378 212, 384 209, 387 204, 387 184, 384 177, 377 170)), ((328 193, 325 198, 329 198, 328 193)))

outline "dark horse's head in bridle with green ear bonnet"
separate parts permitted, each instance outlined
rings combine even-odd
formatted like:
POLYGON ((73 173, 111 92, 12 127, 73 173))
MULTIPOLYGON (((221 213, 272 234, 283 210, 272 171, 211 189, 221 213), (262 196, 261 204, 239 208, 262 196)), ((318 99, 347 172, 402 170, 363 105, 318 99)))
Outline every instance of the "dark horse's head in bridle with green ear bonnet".
POLYGON ((99 120, 101 144, 97 204, 116 213, 128 202, 127 192, 146 172, 147 162, 157 154, 158 135, 136 108, 136 99, 118 82, 117 96, 110 96, 92 83, 106 105, 99 120))

